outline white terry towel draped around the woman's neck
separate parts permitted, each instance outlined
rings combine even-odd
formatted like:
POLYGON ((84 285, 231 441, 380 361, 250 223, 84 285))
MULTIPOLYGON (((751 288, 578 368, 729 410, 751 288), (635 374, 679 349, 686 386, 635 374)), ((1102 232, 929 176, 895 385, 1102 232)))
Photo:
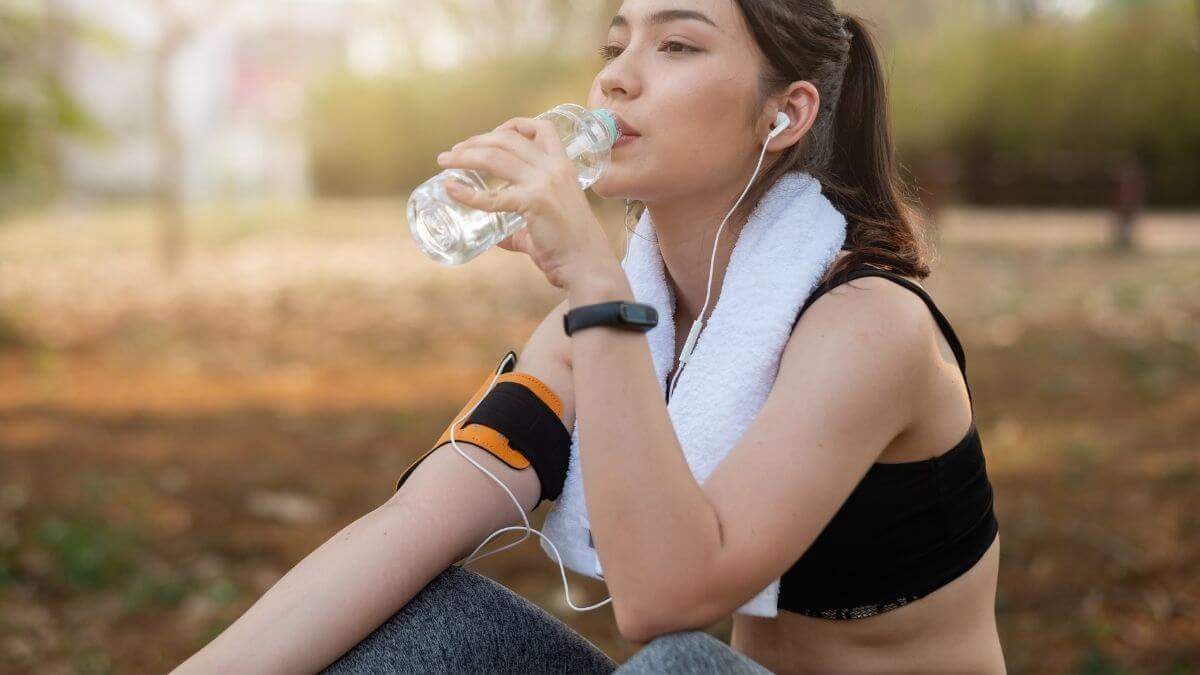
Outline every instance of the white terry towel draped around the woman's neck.
MULTIPOLYGON (((646 335, 665 399, 674 359, 674 293, 666 282, 649 211, 642 213, 635 232, 620 264, 637 301, 659 312, 659 324, 646 335)), ((796 315, 845 239, 845 216, 806 173, 785 174, 751 213, 734 244, 720 295, 714 293, 716 306, 667 405, 697 483, 704 483, 757 416, 775 381, 796 315)), ((563 565, 604 579, 592 546, 582 478, 576 424, 563 492, 546 514, 542 532, 558 548, 563 565)), ((556 560, 546 539, 539 542, 556 560)), ((773 617, 779 613, 778 601, 775 579, 736 611, 773 617)))

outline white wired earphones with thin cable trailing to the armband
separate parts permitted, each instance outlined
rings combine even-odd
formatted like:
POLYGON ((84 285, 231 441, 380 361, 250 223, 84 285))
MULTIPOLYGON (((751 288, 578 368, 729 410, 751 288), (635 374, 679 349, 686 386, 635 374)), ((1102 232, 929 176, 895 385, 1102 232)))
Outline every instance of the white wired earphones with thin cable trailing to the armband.
MULTIPOLYGON (((790 118, 787 115, 787 113, 779 112, 779 113, 775 114, 775 123, 772 125, 770 133, 767 135, 767 139, 762 144, 762 153, 758 154, 758 163, 755 166, 754 174, 750 177, 750 183, 746 184, 745 190, 742 191, 742 196, 738 197, 738 201, 733 203, 733 208, 730 209, 730 213, 725 215, 725 220, 721 221, 721 226, 716 229, 716 237, 713 238, 713 256, 712 256, 712 258, 708 262, 708 286, 706 287, 706 292, 704 292, 704 306, 701 307, 701 310, 700 310, 700 317, 701 318, 697 318, 695 322, 692 322, 692 324, 691 324, 691 331, 688 334, 688 341, 684 344, 683 351, 679 353, 679 368, 676 370, 674 377, 671 381, 670 392, 674 392, 674 384, 676 384, 676 382, 679 381, 679 374, 683 371, 683 365, 685 363, 688 363, 688 358, 691 356, 691 351, 696 346, 696 339, 700 336, 700 330, 702 328, 702 321, 701 319, 704 316, 704 310, 708 309, 708 299, 709 299, 709 295, 712 293, 712 286, 713 286, 713 265, 716 263, 716 243, 721 238, 721 229, 725 228, 725 222, 730 219, 731 215, 733 215, 733 211, 738 208, 738 204, 742 203, 742 199, 746 196, 746 192, 750 190, 750 186, 754 185, 754 179, 758 175, 758 169, 762 167, 762 159, 767 154, 767 144, 770 143, 770 141, 773 138, 775 138, 776 136, 779 136, 780 133, 782 133, 784 131, 786 131, 788 127, 791 127, 791 125, 792 125, 792 118, 790 118)), ((512 353, 510 352, 509 354, 505 354, 505 358, 504 358, 504 360, 500 362, 500 366, 497 369, 496 375, 492 376, 492 382, 491 382, 491 384, 488 384, 488 392, 491 392, 492 388, 496 386, 496 380, 500 376, 502 372, 504 372, 504 366, 509 362, 511 362, 511 360, 512 360, 512 353)), ((467 560, 464 560, 462 562, 462 566, 467 566, 467 565, 472 563, 473 561, 479 560, 480 557, 487 557, 487 556, 490 556, 492 554, 498 554, 498 552, 500 552, 500 551, 503 551, 505 549, 511 549, 512 546, 515 546, 515 545, 520 544, 521 542, 524 542, 526 539, 528 539, 529 538, 529 533, 532 532, 532 533, 538 534, 539 537, 546 539, 546 542, 550 543, 550 548, 553 549, 554 557, 558 558, 559 574, 563 577, 563 589, 565 590, 565 593, 566 593, 566 604, 570 605, 571 609, 574 609, 576 611, 588 611, 588 610, 596 609, 596 608, 604 607, 605 604, 611 603, 612 602, 612 597, 610 596, 608 598, 606 598, 606 599, 604 599, 604 601, 601 601, 601 602, 599 602, 596 604, 589 605, 589 607, 583 607, 583 608, 575 607, 575 603, 571 602, 571 589, 570 589, 570 585, 566 583, 566 569, 563 566, 563 556, 559 555, 558 546, 554 545, 554 542, 552 539, 550 539, 550 537, 546 537, 545 534, 542 534, 538 530, 534 530, 533 527, 529 527, 529 516, 526 514, 524 508, 521 506, 521 502, 516 498, 516 496, 512 494, 512 491, 509 490, 508 485, 505 485, 504 482, 500 480, 499 478, 497 478, 496 474, 493 474, 491 471, 487 471, 479 462, 476 462, 475 460, 473 460, 469 456, 467 456, 467 453, 462 452, 462 448, 458 447, 458 443, 455 441, 455 429, 458 426, 458 424, 463 419, 467 419, 468 417, 470 417, 470 413, 475 412, 475 408, 479 407, 480 401, 482 401, 485 396, 480 396, 479 400, 475 401, 475 405, 472 406, 469 411, 467 411, 466 413, 463 413, 462 417, 460 417, 458 419, 454 420, 454 424, 450 425, 450 444, 454 446, 455 452, 457 452, 460 455, 462 455, 463 459, 466 459, 470 464, 475 465, 476 468, 479 468, 480 471, 482 471, 484 473, 486 473, 487 476, 490 476, 492 478, 492 480, 496 480, 496 483, 500 486, 500 489, 504 490, 505 494, 509 495, 510 500, 512 500, 512 503, 515 503, 517 506, 517 512, 521 513, 521 519, 524 521, 524 525, 523 526, 521 526, 521 525, 514 525, 511 527, 502 527, 502 528, 497 530, 496 532, 492 532, 491 534, 487 536, 486 539, 484 539, 484 542, 481 544, 479 544, 478 546, 475 546, 475 550, 472 551, 469 556, 467 556, 467 560), (524 530, 526 536, 521 537, 520 539, 517 539, 516 542, 512 542, 511 544, 509 544, 506 546, 502 546, 499 549, 496 549, 494 551, 488 551, 488 552, 486 552, 486 554, 484 554, 481 556, 478 556, 478 557, 475 556, 475 554, 479 552, 479 550, 482 549, 488 542, 491 542, 493 537, 496 537, 500 532, 508 532, 509 530, 524 530)), ((670 394, 668 394, 668 398, 670 398, 670 394)))

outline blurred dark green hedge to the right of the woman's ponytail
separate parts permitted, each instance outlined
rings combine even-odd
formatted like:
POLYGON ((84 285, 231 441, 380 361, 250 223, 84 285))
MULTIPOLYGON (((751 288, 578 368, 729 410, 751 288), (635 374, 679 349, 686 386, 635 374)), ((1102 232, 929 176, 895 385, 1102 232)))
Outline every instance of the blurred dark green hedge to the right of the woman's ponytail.
POLYGON ((1200 50, 1190 2, 1110 2, 1080 22, 943 26, 896 48, 906 163, 954 156, 983 203, 1108 202, 1136 159, 1150 199, 1200 201, 1200 50))

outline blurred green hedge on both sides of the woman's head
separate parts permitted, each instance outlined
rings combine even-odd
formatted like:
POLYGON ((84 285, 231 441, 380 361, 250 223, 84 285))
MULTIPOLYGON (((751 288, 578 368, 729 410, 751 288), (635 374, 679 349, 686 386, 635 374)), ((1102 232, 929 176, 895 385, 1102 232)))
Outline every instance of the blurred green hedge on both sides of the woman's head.
MULTIPOLYGON (((1106 205, 1135 159, 1157 205, 1200 203, 1200 50, 1190 1, 1102 2, 1068 20, 980 22, 966 11, 894 36, 886 59, 901 161, 950 159, 974 203, 1106 205)), ((446 73, 336 74, 308 107, 318 190, 412 189, 434 156, 586 86, 595 62, 514 56, 446 73), (550 96, 557 88, 559 96, 550 96)), ((582 94, 582 92, 578 92, 582 94)))

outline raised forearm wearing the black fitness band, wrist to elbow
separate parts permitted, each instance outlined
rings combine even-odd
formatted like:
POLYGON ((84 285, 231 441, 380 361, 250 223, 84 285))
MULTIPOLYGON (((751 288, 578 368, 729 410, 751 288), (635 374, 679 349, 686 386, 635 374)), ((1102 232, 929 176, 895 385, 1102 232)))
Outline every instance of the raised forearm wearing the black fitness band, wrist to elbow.
MULTIPOLYGON (((634 300, 619 270, 593 279, 569 289, 571 307, 634 300)), ((622 599, 685 602, 720 550, 720 527, 674 434, 646 334, 588 328, 571 335, 571 350, 588 520, 614 611, 622 599)))

